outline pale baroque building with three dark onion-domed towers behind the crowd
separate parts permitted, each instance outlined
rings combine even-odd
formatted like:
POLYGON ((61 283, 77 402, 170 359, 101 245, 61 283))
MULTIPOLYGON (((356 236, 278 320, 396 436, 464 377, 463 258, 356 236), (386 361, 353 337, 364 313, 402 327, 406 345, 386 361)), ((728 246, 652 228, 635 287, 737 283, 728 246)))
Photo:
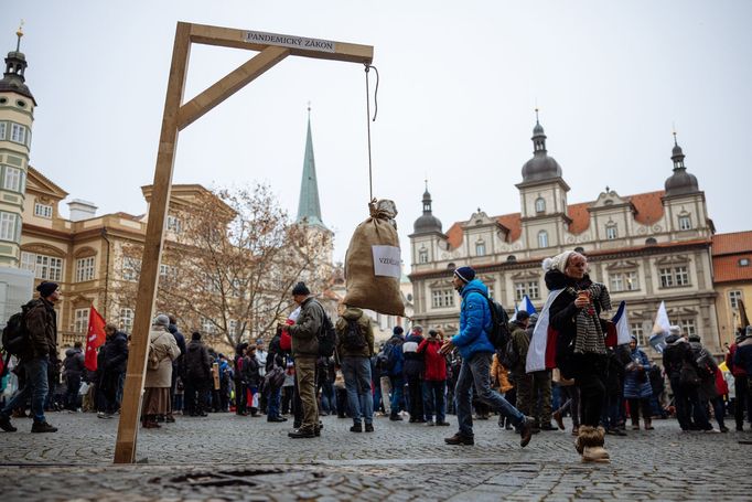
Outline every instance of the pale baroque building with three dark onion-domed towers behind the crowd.
MULTIPOLYGON (((720 350, 712 282, 713 223, 697 178, 674 137, 673 172, 664 190, 620 195, 606 186, 595 200, 570 203, 561 165, 548 154, 537 119, 533 158, 522 168, 518 213, 490 216, 480 207, 444 232, 426 188, 423 214, 410 235, 415 320, 455 332, 459 296, 452 270, 470 265, 507 310, 527 295, 538 310, 547 297, 541 261, 566 249, 588 256, 593 280, 609 286, 615 307, 626 300, 630 329, 647 344, 660 301, 672 323, 720 350)), ((654 355, 657 355, 654 353, 654 355)))

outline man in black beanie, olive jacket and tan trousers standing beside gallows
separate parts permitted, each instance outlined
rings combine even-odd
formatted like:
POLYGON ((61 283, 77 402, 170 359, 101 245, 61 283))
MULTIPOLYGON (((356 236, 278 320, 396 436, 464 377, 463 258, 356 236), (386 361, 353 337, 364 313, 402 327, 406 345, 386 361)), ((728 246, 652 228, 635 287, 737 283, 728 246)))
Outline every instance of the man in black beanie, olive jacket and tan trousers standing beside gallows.
POLYGON ((292 299, 300 306, 300 314, 296 323, 287 329, 292 339, 292 356, 296 360, 296 380, 303 419, 300 428, 288 436, 294 439, 312 438, 320 435, 315 370, 319 356, 318 335, 324 324, 325 313, 321 303, 311 297, 304 282, 298 282, 292 288, 292 299))

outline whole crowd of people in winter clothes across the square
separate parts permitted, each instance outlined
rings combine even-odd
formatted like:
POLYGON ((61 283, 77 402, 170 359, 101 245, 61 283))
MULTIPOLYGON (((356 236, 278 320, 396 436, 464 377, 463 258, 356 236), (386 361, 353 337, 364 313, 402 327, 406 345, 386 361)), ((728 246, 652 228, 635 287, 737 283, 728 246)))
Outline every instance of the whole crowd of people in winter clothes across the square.
MULTIPOLYGON (((201 332, 186 343, 175 318, 159 314, 149 334, 141 425, 160 428, 176 415, 235 413, 270 423, 290 418, 289 437, 302 439, 320 436, 320 417, 329 414, 350 418, 352 432, 374 431, 379 416, 447 427, 448 416, 454 415, 456 432, 444 441, 470 446, 473 420, 495 413, 498 426, 515 430, 525 447, 538 432, 566 429, 565 417, 571 417, 582 459, 609 461, 606 435, 651 431, 655 418, 675 416, 681 430, 707 432, 727 432, 729 413, 737 430, 752 419, 750 327, 728 348, 726 374, 699 337, 685 337, 672 327, 662 369, 634 337, 629 344, 608 343, 601 311, 611 309, 609 291, 590 280, 584 256, 566 252, 544 266, 550 291, 546 306, 540 316, 517 312, 504 346, 491 342, 488 291, 471 267, 453 273, 462 297, 453 337, 440 327, 413 324, 407 333, 394 328, 391 338, 376 345, 372 321, 362 309, 341 306, 331 325, 303 282, 292 289, 297 309, 277 325, 271 340, 240 343, 232 359, 207 346, 201 332), (322 353, 327 329, 335 333, 331 354, 322 353), (549 337, 551 330, 557 334, 549 340, 556 344, 556 364, 529 371, 536 333, 549 337)), ((28 408, 32 432, 57 430, 46 421, 47 410, 90 410, 112 418, 122 399, 128 335, 107 324, 94 372, 84 364, 80 343, 60 363, 53 308, 60 289, 54 282, 36 289, 40 298, 30 302, 26 317, 29 348, 11 374, 3 372, 3 389, 13 375, 18 392, 3 398, 0 428, 15 431, 11 418, 24 416, 28 408)))

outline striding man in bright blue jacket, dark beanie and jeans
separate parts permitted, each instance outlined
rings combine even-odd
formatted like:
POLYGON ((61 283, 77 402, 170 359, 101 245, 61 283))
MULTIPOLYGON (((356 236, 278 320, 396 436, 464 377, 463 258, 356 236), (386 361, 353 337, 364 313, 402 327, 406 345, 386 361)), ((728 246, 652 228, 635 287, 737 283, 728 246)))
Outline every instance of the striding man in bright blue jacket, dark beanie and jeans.
POLYGON ((452 285, 462 296, 460 332, 444 342, 441 353, 449 353, 456 346, 462 355, 462 367, 454 388, 460 431, 444 441, 448 445, 475 444, 472 415, 472 385, 475 385, 477 397, 517 427, 522 435, 519 446, 526 447, 533 436, 533 418, 526 417, 491 388, 491 357, 494 346, 486 334, 491 329, 488 288, 480 279, 475 279, 475 270, 471 267, 455 269, 452 285))

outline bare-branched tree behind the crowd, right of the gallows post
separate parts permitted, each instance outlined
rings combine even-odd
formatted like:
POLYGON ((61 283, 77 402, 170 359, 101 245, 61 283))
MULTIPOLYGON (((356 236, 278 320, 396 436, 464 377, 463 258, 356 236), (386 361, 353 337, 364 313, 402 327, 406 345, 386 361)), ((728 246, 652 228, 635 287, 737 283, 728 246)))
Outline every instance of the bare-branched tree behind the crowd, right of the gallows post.
MULTIPOLYGON (((291 310, 297 281, 313 291, 329 286, 331 233, 291 223, 264 184, 200 192, 174 213, 180 228, 165 243, 157 307, 210 340, 235 346, 268 338, 291 310)), ((123 260, 135 263, 140 248, 123 247, 123 260)), ((135 286, 123 288, 127 302, 135 286)))

